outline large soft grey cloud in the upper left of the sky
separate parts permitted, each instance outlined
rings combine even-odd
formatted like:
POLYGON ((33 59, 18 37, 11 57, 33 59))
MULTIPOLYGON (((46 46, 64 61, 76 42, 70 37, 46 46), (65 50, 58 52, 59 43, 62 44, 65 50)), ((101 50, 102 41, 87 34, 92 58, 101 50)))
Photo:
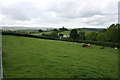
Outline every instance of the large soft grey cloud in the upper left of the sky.
POLYGON ((2 9, 4 15, 20 21, 31 20, 32 17, 40 15, 39 9, 36 9, 34 4, 27 2, 16 3, 9 7, 3 7, 2 9))

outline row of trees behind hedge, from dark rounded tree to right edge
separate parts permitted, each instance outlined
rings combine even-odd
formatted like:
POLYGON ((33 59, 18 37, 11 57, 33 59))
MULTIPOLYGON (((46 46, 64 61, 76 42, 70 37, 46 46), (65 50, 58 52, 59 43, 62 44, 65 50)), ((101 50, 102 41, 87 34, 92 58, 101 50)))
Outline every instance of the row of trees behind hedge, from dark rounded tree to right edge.
POLYGON ((77 29, 72 29, 70 32, 70 39, 72 40, 91 40, 91 41, 103 41, 103 42, 119 42, 119 28, 120 24, 112 24, 107 29, 102 31, 93 31, 85 35, 84 31, 78 32, 77 29))

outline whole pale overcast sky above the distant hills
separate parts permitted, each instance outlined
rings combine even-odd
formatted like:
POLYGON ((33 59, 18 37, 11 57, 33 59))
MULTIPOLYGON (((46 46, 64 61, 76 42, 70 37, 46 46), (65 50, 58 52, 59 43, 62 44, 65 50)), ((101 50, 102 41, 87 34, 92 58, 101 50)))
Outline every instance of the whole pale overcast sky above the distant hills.
POLYGON ((0 0, 0 25, 106 28, 118 22, 119 0, 0 0))

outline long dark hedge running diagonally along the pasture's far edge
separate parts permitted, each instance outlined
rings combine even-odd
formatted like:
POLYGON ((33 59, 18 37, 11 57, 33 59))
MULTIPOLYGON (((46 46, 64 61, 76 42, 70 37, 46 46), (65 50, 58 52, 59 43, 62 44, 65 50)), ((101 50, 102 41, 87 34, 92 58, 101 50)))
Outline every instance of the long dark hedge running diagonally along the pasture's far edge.
POLYGON ((90 44, 95 44, 95 45, 100 45, 100 46, 120 48, 120 44, 119 43, 113 43, 113 42, 99 42, 99 41, 88 41, 88 40, 68 40, 68 39, 42 37, 42 36, 36 36, 36 35, 30 35, 30 34, 20 34, 20 33, 11 33, 11 32, 2 32, 2 35, 23 36, 23 37, 32 37, 32 38, 39 38, 39 39, 77 42, 77 43, 90 43, 90 44))

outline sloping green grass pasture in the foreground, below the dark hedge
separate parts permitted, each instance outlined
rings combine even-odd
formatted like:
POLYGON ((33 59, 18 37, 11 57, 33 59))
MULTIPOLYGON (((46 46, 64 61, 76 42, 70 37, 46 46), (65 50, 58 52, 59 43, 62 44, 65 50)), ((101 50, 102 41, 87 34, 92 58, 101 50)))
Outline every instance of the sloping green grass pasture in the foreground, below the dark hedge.
POLYGON ((117 78, 118 50, 3 36, 5 78, 117 78))

